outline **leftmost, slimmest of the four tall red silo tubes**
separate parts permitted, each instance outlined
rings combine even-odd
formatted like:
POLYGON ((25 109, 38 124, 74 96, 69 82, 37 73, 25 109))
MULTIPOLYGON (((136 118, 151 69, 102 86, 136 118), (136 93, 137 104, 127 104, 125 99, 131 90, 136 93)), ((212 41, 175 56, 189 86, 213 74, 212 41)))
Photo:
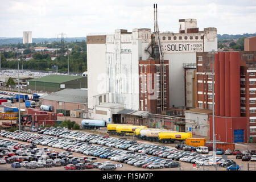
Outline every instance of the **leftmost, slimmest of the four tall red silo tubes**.
POLYGON ((218 53, 214 54, 214 102, 215 115, 220 115, 220 61, 218 53))

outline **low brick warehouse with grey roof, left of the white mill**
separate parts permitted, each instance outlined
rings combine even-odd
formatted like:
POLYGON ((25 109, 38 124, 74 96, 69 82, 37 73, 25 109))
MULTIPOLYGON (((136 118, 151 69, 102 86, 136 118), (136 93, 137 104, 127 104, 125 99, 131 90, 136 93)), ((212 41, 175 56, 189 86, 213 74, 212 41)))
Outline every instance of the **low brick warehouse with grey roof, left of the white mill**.
POLYGON ((87 90, 85 89, 64 89, 40 98, 42 105, 53 106, 53 112, 59 109, 88 111, 87 90))

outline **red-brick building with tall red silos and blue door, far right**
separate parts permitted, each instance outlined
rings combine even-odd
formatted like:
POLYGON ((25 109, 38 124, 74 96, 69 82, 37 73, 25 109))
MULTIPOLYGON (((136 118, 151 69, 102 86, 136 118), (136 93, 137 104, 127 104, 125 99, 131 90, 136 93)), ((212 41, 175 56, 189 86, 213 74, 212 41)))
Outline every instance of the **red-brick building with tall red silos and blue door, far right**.
MULTIPOLYGON (((197 107, 213 107, 216 140, 256 142, 255 51, 197 53, 197 107)), ((212 116, 210 137, 212 139, 212 116)))

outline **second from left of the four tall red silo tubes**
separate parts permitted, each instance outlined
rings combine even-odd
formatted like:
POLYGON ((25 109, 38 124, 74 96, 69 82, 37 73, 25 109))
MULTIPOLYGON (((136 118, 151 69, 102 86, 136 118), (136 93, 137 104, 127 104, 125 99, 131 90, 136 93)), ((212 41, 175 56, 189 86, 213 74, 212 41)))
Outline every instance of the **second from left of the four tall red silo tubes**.
POLYGON ((218 53, 220 61, 220 115, 225 115, 225 54, 218 53))

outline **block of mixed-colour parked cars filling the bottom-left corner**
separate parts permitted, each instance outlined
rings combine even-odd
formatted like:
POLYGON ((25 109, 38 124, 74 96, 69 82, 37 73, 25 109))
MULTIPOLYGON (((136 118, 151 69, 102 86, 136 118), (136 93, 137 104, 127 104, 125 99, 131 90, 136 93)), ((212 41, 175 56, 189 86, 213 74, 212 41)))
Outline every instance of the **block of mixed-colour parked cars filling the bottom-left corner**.
MULTIPOLYGON (((13 133, 1 132, 1 136, 13 138, 13 133)), ((77 158, 72 152, 59 153, 51 148, 37 148, 35 144, 20 144, 9 139, 0 139, 0 157, 0 164, 10 163, 13 168, 36 169, 60 166, 69 170, 91 168, 114 170, 116 168, 115 164, 99 163, 96 158, 77 158)))

